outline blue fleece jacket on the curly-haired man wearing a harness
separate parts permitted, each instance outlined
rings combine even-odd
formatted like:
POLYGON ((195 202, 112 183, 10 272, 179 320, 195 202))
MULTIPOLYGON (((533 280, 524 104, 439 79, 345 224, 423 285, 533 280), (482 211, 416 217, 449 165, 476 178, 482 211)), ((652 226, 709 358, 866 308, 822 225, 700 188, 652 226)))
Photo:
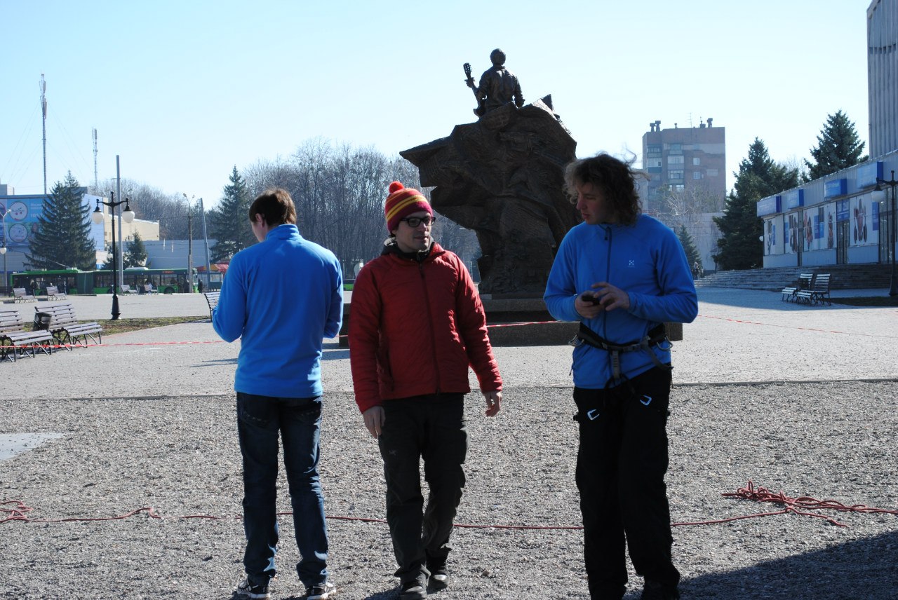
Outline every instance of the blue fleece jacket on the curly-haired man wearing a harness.
MULTIPOLYGON (((552 317, 582 321, 612 343, 631 343, 654 326, 691 323, 699 300, 686 254, 674 231, 647 215, 634 225, 580 223, 561 241, 543 297, 552 317), (629 309, 601 312, 584 319, 574 308, 577 295, 607 282, 626 291, 629 309)), ((670 350, 655 346, 661 362, 670 350)), ((621 373, 633 378, 655 366, 645 351, 621 352, 621 373)), ((574 385, 598 389, 614 385, 611 354, 582 344, 574 349, 574 385)))

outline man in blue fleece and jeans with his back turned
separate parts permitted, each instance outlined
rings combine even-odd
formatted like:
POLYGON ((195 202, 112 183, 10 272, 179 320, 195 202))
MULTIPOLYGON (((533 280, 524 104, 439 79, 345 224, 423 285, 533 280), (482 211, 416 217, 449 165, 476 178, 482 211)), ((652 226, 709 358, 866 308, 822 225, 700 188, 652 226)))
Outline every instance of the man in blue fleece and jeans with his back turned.
POLYGON ((216 333, 241 338, 234 390, 243 457, 246 579, 237 597, 269 598, 277 547, 277 439, 293 506, 296 565, 305 597, 325 600, 328 534, 318 476, 321 432, 321 339, 339 333, 343 276, 333 253, 299 235, 293 199, 283 189, 250 207, 259 244, 231 259, 218 306, 216 333))

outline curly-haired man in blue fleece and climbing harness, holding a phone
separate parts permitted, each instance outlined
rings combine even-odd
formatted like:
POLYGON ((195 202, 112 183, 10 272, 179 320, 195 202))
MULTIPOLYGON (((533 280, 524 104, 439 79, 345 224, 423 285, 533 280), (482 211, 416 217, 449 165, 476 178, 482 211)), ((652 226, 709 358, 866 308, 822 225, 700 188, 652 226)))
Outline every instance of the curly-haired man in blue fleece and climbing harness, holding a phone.
POLYGON ((642 598, 679 598, 665 487, 664 323, 698 314, 689 264, 674 231, 641 214, 628 163, 599 154, 570 163, 565 176, 584 222, 562 240, 544 300, 553 317, 580 321, 577 488, 590 596, 623 597, 629 546, 642 598))

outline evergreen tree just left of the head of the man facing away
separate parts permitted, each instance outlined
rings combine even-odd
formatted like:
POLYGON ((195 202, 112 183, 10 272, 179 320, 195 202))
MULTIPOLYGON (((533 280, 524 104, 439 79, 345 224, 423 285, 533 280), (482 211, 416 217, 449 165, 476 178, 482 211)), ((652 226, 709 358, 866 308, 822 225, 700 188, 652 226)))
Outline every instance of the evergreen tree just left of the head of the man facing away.
POLYGON ((250 227, 250 191, 236 165, 230 181, 221 202, 208 213, 209 237, 216 239, 216 245, 211 248, 212 260, 216 261, 233 257, 256 243, 250 227))

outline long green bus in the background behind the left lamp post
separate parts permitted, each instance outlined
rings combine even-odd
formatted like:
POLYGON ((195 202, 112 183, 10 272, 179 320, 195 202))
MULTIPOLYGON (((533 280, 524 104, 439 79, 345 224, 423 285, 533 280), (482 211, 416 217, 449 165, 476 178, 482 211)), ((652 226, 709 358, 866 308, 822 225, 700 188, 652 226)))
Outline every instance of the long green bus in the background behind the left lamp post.
MULTIPOLYGON (((166 294, 197 290, 197 270, 191 269, 188 283, 187 269, 148 269, 145 266, 125 269, 124 280, 132 290, 143 291, 145 283, 152 283, 154 290, 166 294), (190 288, 193 288, 192 290, 190 288)), ((25 288, 32 295, 46 293, 48 285, 55 285, 69 294, 112 293, 112 271, 79 271, 78 269, 38 269, 18 271, 9 274, 9 284, 13 288, 25 288)))

